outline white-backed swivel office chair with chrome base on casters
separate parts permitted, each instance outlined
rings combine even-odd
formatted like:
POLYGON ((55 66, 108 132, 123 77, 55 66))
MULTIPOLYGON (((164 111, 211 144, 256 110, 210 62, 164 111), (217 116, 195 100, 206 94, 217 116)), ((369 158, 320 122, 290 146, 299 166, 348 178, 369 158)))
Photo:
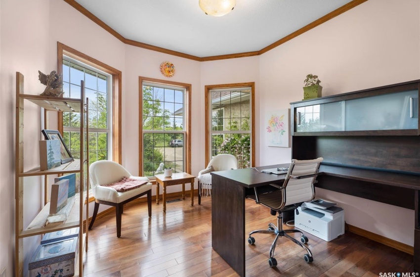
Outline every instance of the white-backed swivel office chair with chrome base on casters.
POLYGON ((315 190, 313 184, 318 176, 319 165, 323 158, 315 160, 292 160, 289 171, 286 175, 283 185, 270 184, 268 187, 254 188, 254 194, 247 195, 248 198, 255 200, 256 203, 262 204, 271 209, 271 215, 278 214, 277 226, 270 223, 267 230, 256 230, 250 232, 248 238, 249 244, 254 244, 255 238, 252 237, 254 233, 268 233, 275 234, 273 244, 270 248, 270 258, 268 264, 270 267, 277 266, 277 260, 273 257, 276 248, 277 239, 284 236, 292 240, 297 245, 300 245, 308 252, 303 256, 307 263, 313 261, 311 250, 305 245, 308 238, 302 231, 291 229, 283 230, 282 212, 287 212, 296 209, 302 202, 312 201, 315 197, 315 190), (267 189, 268 188, 268 189, 267 189), (259 191, 258 191, 259 190, 259 191), (301 233, 300 241, 290 236, 287 233, 301 233))

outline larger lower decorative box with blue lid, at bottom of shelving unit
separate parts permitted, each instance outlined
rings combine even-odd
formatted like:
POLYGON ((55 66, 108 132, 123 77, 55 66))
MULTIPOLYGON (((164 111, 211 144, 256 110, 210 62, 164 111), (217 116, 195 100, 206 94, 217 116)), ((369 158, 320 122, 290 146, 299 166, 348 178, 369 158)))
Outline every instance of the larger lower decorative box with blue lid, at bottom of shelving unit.
POLYGON ((69 277, 75 275, 78 238, 38 246, 29 263, 30 277, 69 277))

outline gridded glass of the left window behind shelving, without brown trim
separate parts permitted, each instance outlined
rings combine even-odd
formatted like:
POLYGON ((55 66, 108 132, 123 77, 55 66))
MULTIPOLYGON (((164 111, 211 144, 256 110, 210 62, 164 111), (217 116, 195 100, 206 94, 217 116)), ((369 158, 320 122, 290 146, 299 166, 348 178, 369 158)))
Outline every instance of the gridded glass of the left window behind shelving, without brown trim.
MULTIPOLYGON (((80 98, 81 80, 84 81, 84 96, 89 104, 89 164, 110 159, 111 151, 111 99, 110 75, 79 61, 63 59, 63 97, 80 98)), ((63 139, 75 159, 80 155, 80 114, 63 113, 63 139)), ((86 148, 84 148, 86 149, 86 148)), ((86 155, 86 153, 84 153, 86 155)))

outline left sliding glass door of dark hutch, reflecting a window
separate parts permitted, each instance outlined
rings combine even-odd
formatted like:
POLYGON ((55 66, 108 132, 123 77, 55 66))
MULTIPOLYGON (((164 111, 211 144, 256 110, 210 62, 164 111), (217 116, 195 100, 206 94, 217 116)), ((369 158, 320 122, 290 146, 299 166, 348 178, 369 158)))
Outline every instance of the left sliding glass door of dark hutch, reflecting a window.
POLYGON ((295 132, 344 131, 344 101, 296 108, 295 132))

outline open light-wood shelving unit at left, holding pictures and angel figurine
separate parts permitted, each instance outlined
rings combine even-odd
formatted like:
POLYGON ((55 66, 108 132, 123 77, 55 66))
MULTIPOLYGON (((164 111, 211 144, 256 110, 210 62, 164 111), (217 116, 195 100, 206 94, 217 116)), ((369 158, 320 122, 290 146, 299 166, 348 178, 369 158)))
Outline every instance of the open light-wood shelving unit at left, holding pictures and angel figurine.
MULTIPOLYGON (((23 261, 24 256, 30 257, 31 253, 24 252, 23 238, 30 237, 40 234, 45 234, 52 231, 60 231, 65 229, 71 229, 79 227, 79 245, 78 245, 78 257, 76 260, 75 276, 83 276, 83 252, 87 250, 87 218, 88 209, 86 207, 86 234, 83 233, 83 208, 85 200, 88 196, 88 186, 84 185, 84 162, 88 164, 88 157, 84 159, 84 114, 87 110, 87 104, 84 103, 84 83, 81 82, 81 99, 73 98, 60 98, 50 96, 40 96, 24 94, 23 91, 24 78, 19 72, 16 72, 16 178, 15 178, 15 201, 16 201, 16 219, 15 219, 15 273, 18 277, 23 277, 23 261), (80 159, 74 160, 73 162, 62 164, 59 167, 51 170, 41 171, 39 167, 25 171, 23 167, 24 161, 24 101, 29 100, 30 102, 44 108, 48 112, 76 112, 80 113, 80 159), (24 208, 24 178, 30 176, 44 176, 45 180, 48 175, 57 174, 69 174, 69 173, 80 173, 80 192, 77 193, 74 201, 74 205, 70 209, 70 214, 67 220, 63 223, 55 223, 53 225, 44 225, 46 218, 49 215, 49 199, 43 199, 45 206, 33 219, 31 224, 24 230, 23 226, 23 208, 24 208)), ((86 123, 86 126, 88 124, 86 123)), ((87 130, 86 130, 87 132, 87 130)), ((28 139, 28 138, 25 138, 28 139)), ((46 184, 44 182, 44 189, 46 191, 46 184)), ((44 193, 46 198, 46 192, 44 193)))

